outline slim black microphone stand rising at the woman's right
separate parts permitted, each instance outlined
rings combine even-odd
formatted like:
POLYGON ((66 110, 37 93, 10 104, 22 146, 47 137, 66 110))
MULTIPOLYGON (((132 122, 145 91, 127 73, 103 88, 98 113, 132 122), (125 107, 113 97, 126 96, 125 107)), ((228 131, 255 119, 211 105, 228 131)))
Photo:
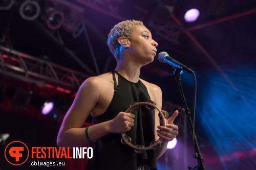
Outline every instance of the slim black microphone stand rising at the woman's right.
MULTIPOLYGON (((182 99, 183 99, 183 103, 185 105, 185 109, 182 108, 181 112, 185 113, 187 115, 189 127, 190 127, 190 130, 191 130, 192 136, 193 136, 193 123, 192 123, 192 120, 191 120, 190 110, 187 107, 185 95, 184 95, 184 92, 183 92, 183 89, 182 89, 180 72, 181 72, 181 69, 174 68, 175 80, 178 82, 180 92, 181 92, 181 95, 182 95, 182 99)), ((205 165, 204 165, 203 154, 201 154, 201 152, 200 152, 195 132, 194 132, 193 143, 194 143, 194 150, 195 150, 195 153, 194 153, 193 157, 196 158, 197 162, 198 162, 198 165, 195 166, 193 168, 193 170, 206 170, 205 165)), ((188 166, 188 169, 192 170, 192 167, 188 166)))

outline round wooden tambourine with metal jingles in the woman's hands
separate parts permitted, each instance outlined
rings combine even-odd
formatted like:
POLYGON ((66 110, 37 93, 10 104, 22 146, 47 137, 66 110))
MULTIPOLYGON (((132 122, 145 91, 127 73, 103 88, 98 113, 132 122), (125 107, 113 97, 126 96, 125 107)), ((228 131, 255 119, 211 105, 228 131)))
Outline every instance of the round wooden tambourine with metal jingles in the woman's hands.
MULTIPOLYGON (((159 111, 158 116, 163 119, 163 126, 166 127, 167 118, 169 114, 168 112, 159 109, 156 106, 155 102, 153 101, 139 102, 139 103, 133 102, 125 112, 129 112, 129 111, 132 112, 134 110, 138 111, 140 110, 140 106, 143 106, 143 105, 145 105, 147 109, 151 109, 151 110, 157 109, 159 111)), ((148 147, 145 147, 142 144, 134 145, 132 144, 132 138, 130 136, 126 136, 124 132, 122 133, 121 143, 129 145, 130 147, 134 148, 135 152, 142 154, 145 150, 151 150, 151 149, 158 150, 161 147, 162 141, 160 140, 160 138, 157 141, 154 140, 151 142, 150 146, 148 147)))

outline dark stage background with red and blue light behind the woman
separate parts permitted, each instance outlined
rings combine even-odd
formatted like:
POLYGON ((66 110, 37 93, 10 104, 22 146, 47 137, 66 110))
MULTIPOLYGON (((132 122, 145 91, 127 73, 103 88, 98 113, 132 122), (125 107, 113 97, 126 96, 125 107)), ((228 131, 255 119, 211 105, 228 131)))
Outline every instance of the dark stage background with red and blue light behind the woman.
MULTIPOLYGON (((207 170, 256 169, 256 1, 255 0, 0 0, 0 169, 83 169, 84 160, 56 168, 10 165, 4 151, 11 141, 28 147, 56 147, 61 121, 80 84, 115 68, 106 39, 125 19, 142 20, 158 42, 157 54, 195 71, 183 72, 182 85, 207 170), (31 4, 32 2, 32 4, 31 4), (200 11, 186 22, 189 8, 200 11), (57 17, 57 18, 55 18, 57 17), (53 101, 49 115, 40 101, 53 101)), ((184 107, 171 65, 157 59, 141 69, 141 78, 163 92, 163 110, 184 107)), ((84 126, 89 126, 91 117, 84 126)), ((159 170, 196 166, 187 118, 179 126, 177 146, 158 160, 159 170)), ((113 161, 114 163, 114 161, 113 161)))

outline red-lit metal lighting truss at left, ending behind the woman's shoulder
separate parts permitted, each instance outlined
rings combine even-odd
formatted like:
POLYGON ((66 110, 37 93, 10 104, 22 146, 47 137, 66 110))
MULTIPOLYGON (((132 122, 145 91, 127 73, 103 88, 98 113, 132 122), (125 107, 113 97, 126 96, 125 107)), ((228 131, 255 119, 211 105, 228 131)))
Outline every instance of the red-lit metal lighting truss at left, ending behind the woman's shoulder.
POLYGON ((89 75, 0 46, 0 72, 30 83, 71 93, 89 75))

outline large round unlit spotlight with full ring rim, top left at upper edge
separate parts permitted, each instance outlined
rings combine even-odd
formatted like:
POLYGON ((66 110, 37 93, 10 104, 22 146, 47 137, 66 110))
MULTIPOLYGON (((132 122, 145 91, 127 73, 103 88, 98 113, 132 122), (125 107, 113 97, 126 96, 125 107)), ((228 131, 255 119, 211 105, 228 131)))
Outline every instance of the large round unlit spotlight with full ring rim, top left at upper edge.
POLYGON ((19 7, 19 14, 25 20, 34 20, 40 13, 40 6, 35 1, 25 1, 19 7))

